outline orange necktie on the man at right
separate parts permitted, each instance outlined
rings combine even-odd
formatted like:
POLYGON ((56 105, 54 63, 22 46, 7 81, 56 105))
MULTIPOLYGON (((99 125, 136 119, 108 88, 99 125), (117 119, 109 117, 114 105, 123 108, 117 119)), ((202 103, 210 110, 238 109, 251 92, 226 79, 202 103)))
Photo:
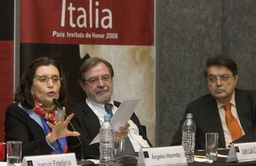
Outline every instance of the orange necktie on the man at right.
POLYGON ((242 130, 236 118, 234 118, 234 116, 231 113, 231 103, 226 104, 223 107, 226 110, 226 123, 228 125, 229 131, 234 141, 243 135, 242 130))

